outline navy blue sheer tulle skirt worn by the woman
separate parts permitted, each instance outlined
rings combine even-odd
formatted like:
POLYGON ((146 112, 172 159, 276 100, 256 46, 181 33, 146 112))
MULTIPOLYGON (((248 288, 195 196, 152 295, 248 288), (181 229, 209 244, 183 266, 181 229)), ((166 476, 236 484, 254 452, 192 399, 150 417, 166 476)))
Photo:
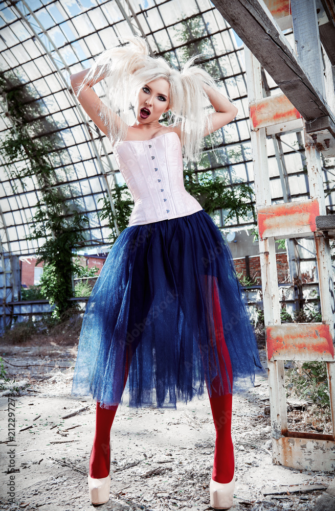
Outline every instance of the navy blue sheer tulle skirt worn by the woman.
POLYGON ((83 317, 72 395, 110 408, 232 392, 262 369, 227 242, 204 210, 133 225, 111 248, 83 317))

